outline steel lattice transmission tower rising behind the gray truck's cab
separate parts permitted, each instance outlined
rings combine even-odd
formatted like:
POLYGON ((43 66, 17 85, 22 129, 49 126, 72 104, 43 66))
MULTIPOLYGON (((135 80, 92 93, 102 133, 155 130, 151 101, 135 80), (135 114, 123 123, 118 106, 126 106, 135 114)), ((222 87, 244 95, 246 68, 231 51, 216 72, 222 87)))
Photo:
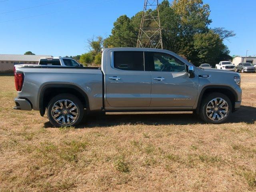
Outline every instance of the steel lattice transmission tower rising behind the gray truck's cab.
POLYGON ((163 48, 158 0, 145 0, 137 47, 163 48))

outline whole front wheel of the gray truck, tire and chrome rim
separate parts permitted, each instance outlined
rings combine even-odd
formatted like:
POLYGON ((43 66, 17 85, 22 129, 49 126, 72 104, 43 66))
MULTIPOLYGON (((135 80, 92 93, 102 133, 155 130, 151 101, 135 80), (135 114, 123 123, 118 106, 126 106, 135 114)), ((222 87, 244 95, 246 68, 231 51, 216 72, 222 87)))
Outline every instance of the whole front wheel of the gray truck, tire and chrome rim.
POLYGON ((232 109, 230 99, 218 92, 210 93, 200 106, 200 117, 208 123, 220 124, 228 120, 232 109))

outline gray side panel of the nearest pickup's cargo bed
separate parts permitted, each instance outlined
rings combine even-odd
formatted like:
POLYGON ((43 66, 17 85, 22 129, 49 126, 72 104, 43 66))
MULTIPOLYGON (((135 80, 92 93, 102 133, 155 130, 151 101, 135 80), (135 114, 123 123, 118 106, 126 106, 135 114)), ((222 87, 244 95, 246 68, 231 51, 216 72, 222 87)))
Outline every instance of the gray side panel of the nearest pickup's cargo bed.
POLYGON ((18 98, 29 100, 34 110, 39 110, 40 96, 44 88, 49 86, 80 90, 88 97, 92 110, 101 110, 103 106, 103 74, 100 67, 22 66, 16 68, 16 72, 24 74, 18 98))

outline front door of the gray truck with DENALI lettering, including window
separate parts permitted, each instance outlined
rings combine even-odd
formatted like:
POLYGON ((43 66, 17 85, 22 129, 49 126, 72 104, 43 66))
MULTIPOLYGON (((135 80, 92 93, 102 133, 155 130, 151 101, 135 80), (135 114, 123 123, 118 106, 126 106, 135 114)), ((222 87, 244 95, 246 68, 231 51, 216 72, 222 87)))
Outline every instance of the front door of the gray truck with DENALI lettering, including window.
POLYGON ((162 52, 148 52, 152 91, 150 107, 192 107, 198 93, 198 74, 189 78, 188 66, 178 58, 162 52))

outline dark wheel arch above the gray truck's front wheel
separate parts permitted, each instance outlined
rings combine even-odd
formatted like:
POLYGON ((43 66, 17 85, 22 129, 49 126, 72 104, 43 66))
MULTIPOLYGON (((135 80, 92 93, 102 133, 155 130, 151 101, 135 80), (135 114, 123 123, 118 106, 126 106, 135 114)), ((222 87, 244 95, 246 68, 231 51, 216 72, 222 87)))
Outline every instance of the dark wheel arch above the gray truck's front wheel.
POLYGON ((219 93, 222 93, 222 94, 225 94, 226 96, 228 96, 228 98, 230 99, 230 101, 232 103, 232 112, 234 112, 234 104, 238 100, 238 95, 236 94, 234 89, 229 86, 209 85, 209 86, 205 86, 202 89, 202 91, 198 97, 198 102, 197 102, 197 106, 196 106, 197 114, 199 114, 200 105, 201 105, 203 97, 207 94, 210 94, 211 92, 219 92, 219 93))

